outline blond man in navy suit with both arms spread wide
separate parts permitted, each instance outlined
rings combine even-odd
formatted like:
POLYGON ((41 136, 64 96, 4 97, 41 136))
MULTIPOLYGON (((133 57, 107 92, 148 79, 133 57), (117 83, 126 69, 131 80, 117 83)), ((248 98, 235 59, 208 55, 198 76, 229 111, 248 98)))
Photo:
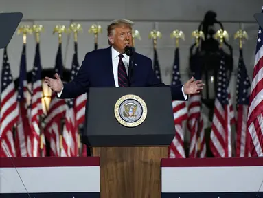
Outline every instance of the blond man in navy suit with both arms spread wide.
MULTIPOLYGON (((115 20, 108 25, 108 43, 106 49, 88 52, 76 77, 70 83, 45 78, 45 83, 58 93, 58 98, 76 98, 88 92, 89 87, 127 87, 129 56, 124 53, 126 46, 132 46, 133 22, 126 19, 115 20)), ((159 81, 152 69, 150 58, 134 53, 131 87, 167 86, 159 81)), ((201 80, 191 78, 184 85, 170 86, 172 100, 187 100, 188 94, 199 93, 203 89, 201 80)))

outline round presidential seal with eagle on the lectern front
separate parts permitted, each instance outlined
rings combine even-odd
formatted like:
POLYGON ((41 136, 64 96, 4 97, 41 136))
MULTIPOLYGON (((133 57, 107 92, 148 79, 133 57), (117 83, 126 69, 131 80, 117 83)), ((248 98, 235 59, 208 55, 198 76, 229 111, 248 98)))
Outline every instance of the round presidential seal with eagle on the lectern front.
POLYGON ((135 127, 144 122, 147 115, 147 107, 139 96, 128 94, 117 100, 114 107, 117 121, 128 127, 135 127))

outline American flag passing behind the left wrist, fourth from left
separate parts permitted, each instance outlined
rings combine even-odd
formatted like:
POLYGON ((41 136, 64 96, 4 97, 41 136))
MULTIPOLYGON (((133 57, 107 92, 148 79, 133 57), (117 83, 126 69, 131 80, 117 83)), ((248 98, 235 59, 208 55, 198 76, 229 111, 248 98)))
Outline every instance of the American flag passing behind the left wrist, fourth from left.
MULTIPOLYGON (((58 44, 56 54, 55 72, 62 78, 62 49, 61 43, 58 44)), ((49 111, 45 118, 45 136, 50 143, 50 155, 60 156, 60 134, 62 132, 62 119, 65 118, 67 104, 64 99, 56 98, 56 92, 52 91, 52 98, 49 104, 49 111)))

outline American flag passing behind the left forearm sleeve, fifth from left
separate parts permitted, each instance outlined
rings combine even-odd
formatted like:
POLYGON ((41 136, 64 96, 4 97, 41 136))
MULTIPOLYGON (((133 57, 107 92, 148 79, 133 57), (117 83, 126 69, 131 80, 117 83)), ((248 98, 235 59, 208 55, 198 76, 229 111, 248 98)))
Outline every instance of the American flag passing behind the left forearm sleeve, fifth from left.
MULTIPOLYGON (((74 43, 75 53, 71 67, 71 80, 74 79, 78 72, 78 44, 74 43)), ((61 157, 76 157, 78 156, 78 125, 76 122, 76 113, 74 109, 75 99, 66 99, 67 109, 65 125, 62 135, 61 157)))

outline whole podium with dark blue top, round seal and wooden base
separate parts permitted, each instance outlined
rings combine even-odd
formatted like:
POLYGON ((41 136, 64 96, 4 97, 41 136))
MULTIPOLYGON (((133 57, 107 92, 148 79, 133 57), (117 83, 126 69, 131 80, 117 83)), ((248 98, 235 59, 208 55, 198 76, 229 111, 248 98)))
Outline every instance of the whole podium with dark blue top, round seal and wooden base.
POLYGON ((100 157, 101 197, 161 197, 173 137, 170 87, 89 89, 82 143, 100 157))

